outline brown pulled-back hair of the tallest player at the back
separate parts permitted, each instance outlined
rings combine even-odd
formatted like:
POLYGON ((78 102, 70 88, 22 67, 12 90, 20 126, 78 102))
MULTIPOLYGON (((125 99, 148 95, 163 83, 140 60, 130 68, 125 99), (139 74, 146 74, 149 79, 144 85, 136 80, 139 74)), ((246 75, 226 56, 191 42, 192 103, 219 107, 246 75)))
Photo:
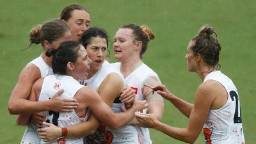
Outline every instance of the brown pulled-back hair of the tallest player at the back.
MULTIPOLYGON (((86 12, 88 12, 88 10, 86 10, 86 8, 84 8, 82 5, 80 4, 70 4, 68 6, 66 6, 61 14, 60 14, 60 19, 61 20, 65 20, 68 21, 68 19, 70 19, 70 17, 72 17, 72 12, 74 10, 84 10, 86 12)), ((89 13, 89 12, 88 12, 89 13)))

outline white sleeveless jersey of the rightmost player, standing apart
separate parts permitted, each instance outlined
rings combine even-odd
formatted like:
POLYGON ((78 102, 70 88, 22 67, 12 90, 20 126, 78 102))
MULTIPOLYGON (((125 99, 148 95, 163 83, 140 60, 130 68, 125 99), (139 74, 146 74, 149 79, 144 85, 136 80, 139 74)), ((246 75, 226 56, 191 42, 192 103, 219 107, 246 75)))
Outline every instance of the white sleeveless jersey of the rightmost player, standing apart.
POLYGON ((228 93, 226 104, 220 109, 211 109, 204 124, 206 144, 245 143, 242 116, 237 88, 220 71, 208 74, 204 82, 212 79, 221 83, 228 93))

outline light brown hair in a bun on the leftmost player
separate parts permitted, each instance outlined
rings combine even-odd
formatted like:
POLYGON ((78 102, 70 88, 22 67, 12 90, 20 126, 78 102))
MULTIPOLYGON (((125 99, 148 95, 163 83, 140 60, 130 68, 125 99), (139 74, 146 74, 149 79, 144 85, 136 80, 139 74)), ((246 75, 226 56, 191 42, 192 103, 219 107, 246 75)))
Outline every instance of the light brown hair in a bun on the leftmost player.
POLYGON ((70 28, 60 19, 53 19, 45 22, 42 25, 38 25, 32 28, 29 35, 29 47, 32 44, 42 44, 44 47, 44 41, 47 40, 49 43, 58 40, 61 36, 64 36, 70 28))

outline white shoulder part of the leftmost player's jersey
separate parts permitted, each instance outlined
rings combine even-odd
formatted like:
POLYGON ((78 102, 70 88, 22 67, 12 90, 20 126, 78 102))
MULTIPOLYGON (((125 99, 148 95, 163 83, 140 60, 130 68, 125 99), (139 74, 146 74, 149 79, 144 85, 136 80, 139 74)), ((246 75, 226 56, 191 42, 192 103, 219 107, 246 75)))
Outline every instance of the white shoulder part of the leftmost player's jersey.
POLYGON ((38 58, 30 61, 28 65, 29 64, 36 65, 36 67, 40 69, 41 77, 46 77, 53 74, 52 68, 47 65, 47 63, 45 63, 44 59, 41 56, 38 56, 38 58))

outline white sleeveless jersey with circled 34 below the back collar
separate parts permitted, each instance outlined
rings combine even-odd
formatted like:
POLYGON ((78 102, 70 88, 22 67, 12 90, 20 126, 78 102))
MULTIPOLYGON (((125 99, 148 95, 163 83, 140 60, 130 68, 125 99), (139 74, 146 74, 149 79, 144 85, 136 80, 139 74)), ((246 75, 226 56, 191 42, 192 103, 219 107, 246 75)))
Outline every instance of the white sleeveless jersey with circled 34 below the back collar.
MULTIPOLYGON (((38 101, 49 100, 52 96, 63 89, 61 94, 63 98, 73 99, 77 91, 83 88, 83 85, 79 84, 76 79, 71 76, 51 75, 44 78, 42 90, 38 101)), ((76 112, 58 113, 55 111, 45 111, 46 122, 54 124, 58 127, 70 127, 72 125, 84 122, 88 119, 89 110, 87 110, 84 118, 79 118, 76 112)), ((52 143, 83 143, 83 138, 62 138, 61 140, 52 141, 52 143)), ((44 141, 41 141, 44 143, 44 141)))

